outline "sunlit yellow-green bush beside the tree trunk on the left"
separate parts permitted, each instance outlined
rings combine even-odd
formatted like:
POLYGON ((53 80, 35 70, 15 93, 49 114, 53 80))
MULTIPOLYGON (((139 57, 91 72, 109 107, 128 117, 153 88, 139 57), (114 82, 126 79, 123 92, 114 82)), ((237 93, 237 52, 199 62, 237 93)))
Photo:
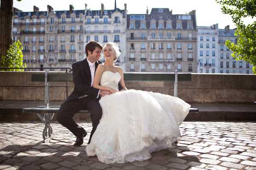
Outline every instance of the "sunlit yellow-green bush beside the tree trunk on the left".
MULTIPOLYGON (((0 60, 0 68, 26 68, 26 64, 23 64, 21 42, 15 41, 7 50, 6 56, 2 56, 0 60)), ((6 71, 1 70, 0 71, 6 71)), ((8 69, 7 71, 23 71, 23 69, 8 69)))

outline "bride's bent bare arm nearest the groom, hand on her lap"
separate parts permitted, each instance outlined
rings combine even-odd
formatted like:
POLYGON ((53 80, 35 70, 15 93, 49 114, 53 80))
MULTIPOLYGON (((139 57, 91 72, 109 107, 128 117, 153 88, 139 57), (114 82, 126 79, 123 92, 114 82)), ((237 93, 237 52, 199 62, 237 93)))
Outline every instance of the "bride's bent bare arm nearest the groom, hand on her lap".
POLYGON ((116 89, 99 85, 103 71, 105 71, 105 66, 102 64, 99 64, 96 69, 96 72, 95 72, 95 76, 94 76, 94 80, 93 80, 93 87, 100 89, 102 91, 110 91, 111 93, 115 93, 116 89))

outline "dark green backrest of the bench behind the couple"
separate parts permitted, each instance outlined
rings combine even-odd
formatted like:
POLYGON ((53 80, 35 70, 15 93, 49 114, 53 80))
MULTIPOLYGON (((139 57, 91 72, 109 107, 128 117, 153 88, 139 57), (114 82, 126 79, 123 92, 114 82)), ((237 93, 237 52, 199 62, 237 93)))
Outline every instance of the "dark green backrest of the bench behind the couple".
MULTIPOLYGON (((152 82, 166 82, 175 81, 175 73, 124 73, 126 82, 135 81, 152 81, 152 82)), ((45 73, 32 74, 32 82, 44 82, 45 73)), ((72 73, 63 72, 48 72, 48 82, 73 82, 72 73)), ((178 73, 177 81, 191 81, 191 73, 178 73)))

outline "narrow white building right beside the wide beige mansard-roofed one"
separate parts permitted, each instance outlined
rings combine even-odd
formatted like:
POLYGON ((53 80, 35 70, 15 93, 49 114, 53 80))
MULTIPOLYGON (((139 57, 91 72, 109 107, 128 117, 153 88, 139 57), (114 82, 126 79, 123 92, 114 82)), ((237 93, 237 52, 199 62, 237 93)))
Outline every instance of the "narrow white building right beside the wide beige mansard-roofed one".
POLYGON ((218 73, 218 24, 198 26, 198 73, 218 73))

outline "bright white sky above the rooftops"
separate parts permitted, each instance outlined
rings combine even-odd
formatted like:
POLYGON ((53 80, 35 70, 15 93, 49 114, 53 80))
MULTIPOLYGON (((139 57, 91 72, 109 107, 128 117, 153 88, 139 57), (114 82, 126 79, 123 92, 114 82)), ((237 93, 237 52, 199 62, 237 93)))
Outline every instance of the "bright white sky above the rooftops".
MULTIPOLYGON (((13 1, 13 6, 24 12, 33 11, 33 6, 37 6, 40 11, 47 11, 47 5, 52 6, 53 10, 69 10, 72 4, 75 10, 84 9, 84 4, 91 10, 100 10, 101 3, 105 9, 114 8, 114 0, 22 0, 13 1)), ((229 25, 231 29, 236 28, 230 15, 222 14, 221 6, 215 0, 116 0, 116 7, 124 9, 127 4, 128 14, 145 14, 148 7, 151 8, 169 8, 172 14, 186 14, 196 10, 197 26, 211 26, 218 23, 218 28, 224 29, 229 25)), ((252 23, 252 19, 247 18, 244 23, 252 23)))

